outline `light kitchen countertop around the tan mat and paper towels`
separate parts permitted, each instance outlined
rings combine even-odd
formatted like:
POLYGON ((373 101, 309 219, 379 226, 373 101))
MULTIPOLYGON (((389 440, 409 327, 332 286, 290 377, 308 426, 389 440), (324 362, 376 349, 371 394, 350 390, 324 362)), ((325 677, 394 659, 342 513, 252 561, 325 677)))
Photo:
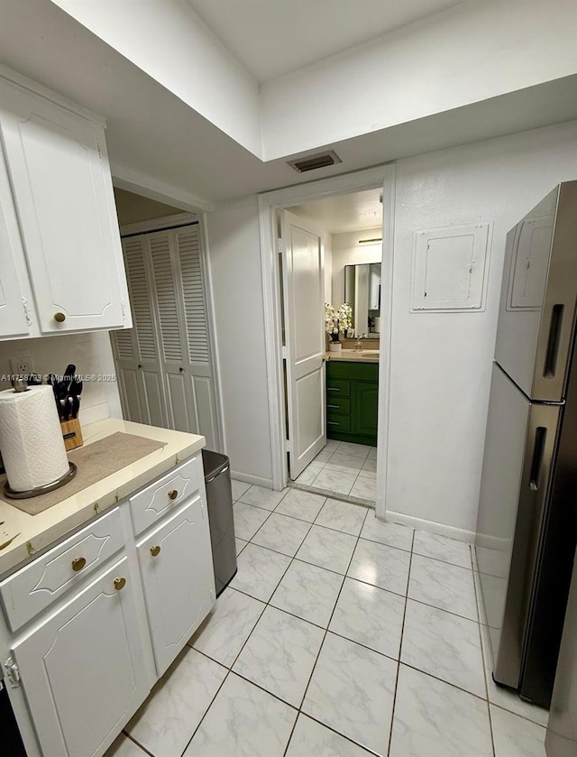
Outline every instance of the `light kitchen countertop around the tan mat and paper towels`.
MULTIPOLYGON (((29 515, 0 500, 0 544, 14 533, 19 534, 8 546, 0 549, 0 575, 90 521, 96 514, 113 507, 141 486, 149 484, 170 468, 192 457, 206 445, 206 439, 197 434, 160 429, 115 418, 98 420, 84 426, 84 444, 86 446, 105 439, 117 431, 157 439, 166 444, 37 515, 29 515)), ((4 482, 5 476, 0 476, 0 485, 4 486, 4 482)))

